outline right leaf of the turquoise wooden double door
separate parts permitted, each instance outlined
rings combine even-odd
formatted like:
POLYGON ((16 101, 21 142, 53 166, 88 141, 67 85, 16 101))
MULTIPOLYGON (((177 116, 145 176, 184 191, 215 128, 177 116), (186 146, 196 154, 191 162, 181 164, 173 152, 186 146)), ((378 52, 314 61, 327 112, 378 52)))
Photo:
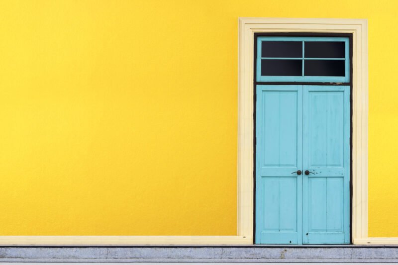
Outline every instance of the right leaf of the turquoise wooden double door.
POLYGON ((349 86, 303 86, 304 244, 350 242, 349 96, 349 86))

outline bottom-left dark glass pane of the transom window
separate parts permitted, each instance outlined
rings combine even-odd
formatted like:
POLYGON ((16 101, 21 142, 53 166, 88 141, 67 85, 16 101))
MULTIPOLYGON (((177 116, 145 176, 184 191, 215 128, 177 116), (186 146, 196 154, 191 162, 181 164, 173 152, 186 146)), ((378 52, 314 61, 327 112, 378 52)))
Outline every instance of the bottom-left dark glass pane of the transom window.
POLYGON ((301 60, 261 60, 262 76, 301 76, 301 60))

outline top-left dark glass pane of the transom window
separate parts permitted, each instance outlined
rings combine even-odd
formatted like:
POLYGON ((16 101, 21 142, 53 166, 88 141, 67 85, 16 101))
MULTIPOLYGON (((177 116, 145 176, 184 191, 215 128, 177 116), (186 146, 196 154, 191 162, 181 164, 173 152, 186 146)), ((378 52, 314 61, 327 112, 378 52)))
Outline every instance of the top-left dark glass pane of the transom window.
POLYGON ((302 42, 262 41, 261 57, 302 58, 302 42))

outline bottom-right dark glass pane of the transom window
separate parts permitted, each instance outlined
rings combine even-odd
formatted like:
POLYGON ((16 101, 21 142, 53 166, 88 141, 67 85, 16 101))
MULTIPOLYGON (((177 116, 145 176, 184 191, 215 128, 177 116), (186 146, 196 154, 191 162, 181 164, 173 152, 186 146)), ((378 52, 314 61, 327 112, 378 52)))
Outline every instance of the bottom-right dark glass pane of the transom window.
POLYGON ((344 60, 305 60, 304 76, 344 77, 344 60))

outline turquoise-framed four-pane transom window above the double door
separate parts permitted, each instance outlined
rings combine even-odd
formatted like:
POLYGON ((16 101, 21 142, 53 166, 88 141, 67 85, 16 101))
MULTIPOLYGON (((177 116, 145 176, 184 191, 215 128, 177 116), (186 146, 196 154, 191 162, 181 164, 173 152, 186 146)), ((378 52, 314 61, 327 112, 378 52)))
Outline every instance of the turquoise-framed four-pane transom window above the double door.
POLYGON ((349 38, 258 37, 257 82, 350 81, 349 38))

